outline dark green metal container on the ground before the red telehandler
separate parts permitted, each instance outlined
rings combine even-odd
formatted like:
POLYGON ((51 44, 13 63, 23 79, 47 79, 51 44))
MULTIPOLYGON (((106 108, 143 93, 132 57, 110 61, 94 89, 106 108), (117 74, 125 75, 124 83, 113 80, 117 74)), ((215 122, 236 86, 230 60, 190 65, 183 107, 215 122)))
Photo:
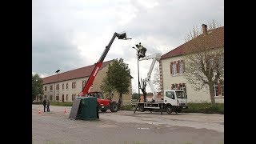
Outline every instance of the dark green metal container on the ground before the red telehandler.
POLYGON ((77 118, 94 120, 98 118, 98 103, 95 97, 78 97, 81 99, 77 118))

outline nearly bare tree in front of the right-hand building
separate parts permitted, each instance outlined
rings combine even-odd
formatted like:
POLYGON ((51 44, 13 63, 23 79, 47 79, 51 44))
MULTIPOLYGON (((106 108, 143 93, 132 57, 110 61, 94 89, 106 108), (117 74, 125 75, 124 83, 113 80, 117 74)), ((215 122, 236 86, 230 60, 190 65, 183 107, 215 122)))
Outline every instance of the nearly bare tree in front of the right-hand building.
POLYGON ((215 105, 214 83, 224 78, 224 36, 219 38, 220 30, 216 29, 216 22, 209 25, 211 30, 207 30, 205 25, 205 30, 200 32, 194 28, 187 34, 184 77, 194 90, 206 87, 210 92, 211 104, 215 105))

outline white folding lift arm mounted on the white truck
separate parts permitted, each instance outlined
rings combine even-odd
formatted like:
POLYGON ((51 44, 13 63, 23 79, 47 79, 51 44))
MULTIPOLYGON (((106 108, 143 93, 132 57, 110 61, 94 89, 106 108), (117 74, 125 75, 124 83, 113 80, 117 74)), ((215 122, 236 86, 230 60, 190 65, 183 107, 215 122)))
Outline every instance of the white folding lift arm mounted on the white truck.
MULTIPOLYGON (((152 74, 152 71, 154 69, 154 64, 156 61, 159 61, 161 58, 161 54, 160 53, 156 53, 156 54, 153 54, 153 55, 149 55, 149 56, 146 56, 144 58, 140 58, 139 61, 142 61, 142 60, 148 60, 148 59, 153 59, 152 63, 151 63, 151 66, 150 66, 150 70, 149 72, 147 73, 147 77, 145 78, 146 82, 149 83, 150 85, 150 90, 152 91, 153 93, 153 97, 152 97, 152 100, 151 102, 154 102, 155 98, 157 98, 157 95, 158 95, 158 92, 157 90, 155 90, 154 86, 153 86, 153 83, 151 82, 150 80, 150 77, 151 77, 151 74, 152 74)), ((147 100, 147 99, 146 99, 147 100)))

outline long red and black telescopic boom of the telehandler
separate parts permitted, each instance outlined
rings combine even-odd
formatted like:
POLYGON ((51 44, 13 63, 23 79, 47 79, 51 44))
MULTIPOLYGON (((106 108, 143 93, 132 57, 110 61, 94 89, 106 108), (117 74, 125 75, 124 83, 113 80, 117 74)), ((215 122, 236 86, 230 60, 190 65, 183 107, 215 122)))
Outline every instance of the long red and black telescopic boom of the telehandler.
POLYGON ((98 62, 95 64, 94 70, 91 72, 90 77, 88 78, 86 85, 83 87, 82 92, 79 94, 79 96, 85 96, 86 94, 88 94, 88 90, 90 89, 90 86, 93 85, 94 78, 98 74, 98 70, 101 68, 102 62, 106 58, 106 54, 110 50, 110 46, 112 45, 112 43, 114 42, 114 38, 116 37, 122 40, 131 39, 131 38, 126 38, 126 33, 118 34, 115 32, 113 34, 113 37, 111 38, 109 44, 106 46, 105 50, 103 51, 102 56, 98 59, 98 62))

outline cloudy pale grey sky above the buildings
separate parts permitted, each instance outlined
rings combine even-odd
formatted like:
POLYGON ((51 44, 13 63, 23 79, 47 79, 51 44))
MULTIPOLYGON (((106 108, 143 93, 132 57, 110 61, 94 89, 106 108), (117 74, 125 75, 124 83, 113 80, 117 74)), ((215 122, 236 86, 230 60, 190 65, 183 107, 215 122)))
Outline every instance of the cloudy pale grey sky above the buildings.
MULTIPOLYGON (((146 55, 166 54, 182 45, 193 27, 213 20, 224 26, 224 0, 33 0, 32 74, 45 78, 56 70, 61 74, 93 65, 113 34, 126 32, 132 39, 115 38, 104 62, 122 58, 138 93, 132 47, 141 42, 146 55)), ((146 78, 151 62, 139 62, 140 78, 146 78)))

